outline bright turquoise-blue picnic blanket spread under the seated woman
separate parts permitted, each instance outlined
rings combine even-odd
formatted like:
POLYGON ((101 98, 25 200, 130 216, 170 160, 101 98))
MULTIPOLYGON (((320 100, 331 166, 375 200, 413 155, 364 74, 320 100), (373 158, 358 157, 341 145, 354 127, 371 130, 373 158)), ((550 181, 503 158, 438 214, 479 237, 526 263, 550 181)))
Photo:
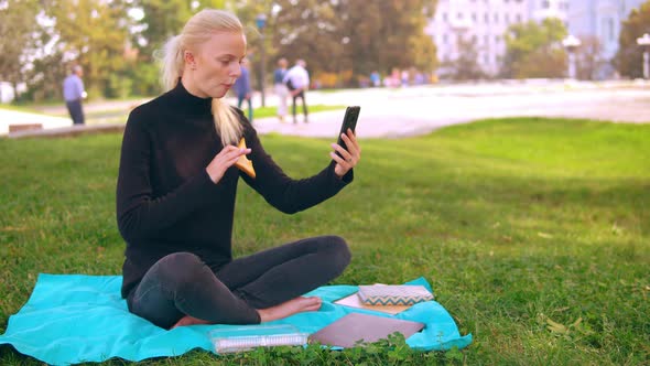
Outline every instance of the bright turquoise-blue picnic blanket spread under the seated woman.
MULTIPOLYGON (((408 282, 431 290, 423 278, 408 282)), ((40 274, 28 303, 9 317, 0 345, 53 365, 102 362, 111 357, 142 360, 178 356, 194 348, 214 352, 208 333, 231 325, 192 325, 171 331, 129 313, 120 297, 121 276, 40 274)), ((349 312, 373 313, 425 323, 407 343, 422 351, 463 348, 472 334, 461 336, 447 311, 435 301, 419 303, 397 314, 365 311, 333 301, 358 290, 356 286, 324 286, 307 295, 323 299, 317 312, 306 312, 266 324, 292 324, 315 333, 349 312)))

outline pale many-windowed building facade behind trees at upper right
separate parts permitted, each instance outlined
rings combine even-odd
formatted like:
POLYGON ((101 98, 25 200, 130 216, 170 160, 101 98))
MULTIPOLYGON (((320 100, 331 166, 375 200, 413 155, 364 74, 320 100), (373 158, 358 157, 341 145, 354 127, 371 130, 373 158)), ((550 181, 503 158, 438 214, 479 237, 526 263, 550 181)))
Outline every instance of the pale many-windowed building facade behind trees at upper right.
MULTIPOLYGON (((488 75, 498 75, 506 53, 503 34, 512 23, 562 20, 575 36, 595 36, 607 63, 602 77, 613 74, 609 61, 618 50, 620 26, 630 11, 647 0, 438 0, 426 33, 437 49, 438 62, 458 58, 457 40, 474 40, 478 65, 488 75)), ((641 34, 639 34, 641 36, 641 34)), ((438 69, 438 76, 444 74, 438 69)))

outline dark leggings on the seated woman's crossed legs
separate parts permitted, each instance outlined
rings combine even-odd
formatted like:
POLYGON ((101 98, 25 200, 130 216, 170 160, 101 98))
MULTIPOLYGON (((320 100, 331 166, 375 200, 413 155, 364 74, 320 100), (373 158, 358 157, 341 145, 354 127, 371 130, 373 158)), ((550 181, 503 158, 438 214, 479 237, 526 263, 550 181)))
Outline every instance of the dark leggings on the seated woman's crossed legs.
POLYGON ((215 324, 257 324, 257 309, 327 283, 350 261, 345 240, 321 236, 232 260, 213 272, 191 252, 153 265, 127 298, 129 310, 169 329, 191 315, 215 324))

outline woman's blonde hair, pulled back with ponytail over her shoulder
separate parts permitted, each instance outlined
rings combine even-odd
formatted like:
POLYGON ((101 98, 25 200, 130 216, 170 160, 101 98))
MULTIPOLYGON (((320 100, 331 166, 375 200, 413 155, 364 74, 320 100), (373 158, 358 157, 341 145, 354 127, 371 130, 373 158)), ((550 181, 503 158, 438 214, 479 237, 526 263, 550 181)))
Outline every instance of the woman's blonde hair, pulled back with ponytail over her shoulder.
MULTIPOLYGON (((204 9, 187 21, 180 35, 167 40, 161 67, 161 82, 165 92, 173 89, 183 76, 185 50, 196 51, 215 32, 243 33, 243 28, 239 19, 227 11, 204 9)), ((213 98, 212 111, 221 143, 236 144, 243 129, 237 112, 219 98, 213 98)))

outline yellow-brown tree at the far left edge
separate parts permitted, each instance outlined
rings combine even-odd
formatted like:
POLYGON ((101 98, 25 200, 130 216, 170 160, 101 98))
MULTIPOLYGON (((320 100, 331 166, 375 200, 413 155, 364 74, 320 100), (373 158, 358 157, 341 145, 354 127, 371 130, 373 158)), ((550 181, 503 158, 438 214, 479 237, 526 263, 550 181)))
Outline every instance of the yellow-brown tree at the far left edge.
POLYGON ((0 2, 0 82, 9 82, 18 96, 17 85, 25 80, 25 51, 33 49, 36 24, 34 1, 0 2))

